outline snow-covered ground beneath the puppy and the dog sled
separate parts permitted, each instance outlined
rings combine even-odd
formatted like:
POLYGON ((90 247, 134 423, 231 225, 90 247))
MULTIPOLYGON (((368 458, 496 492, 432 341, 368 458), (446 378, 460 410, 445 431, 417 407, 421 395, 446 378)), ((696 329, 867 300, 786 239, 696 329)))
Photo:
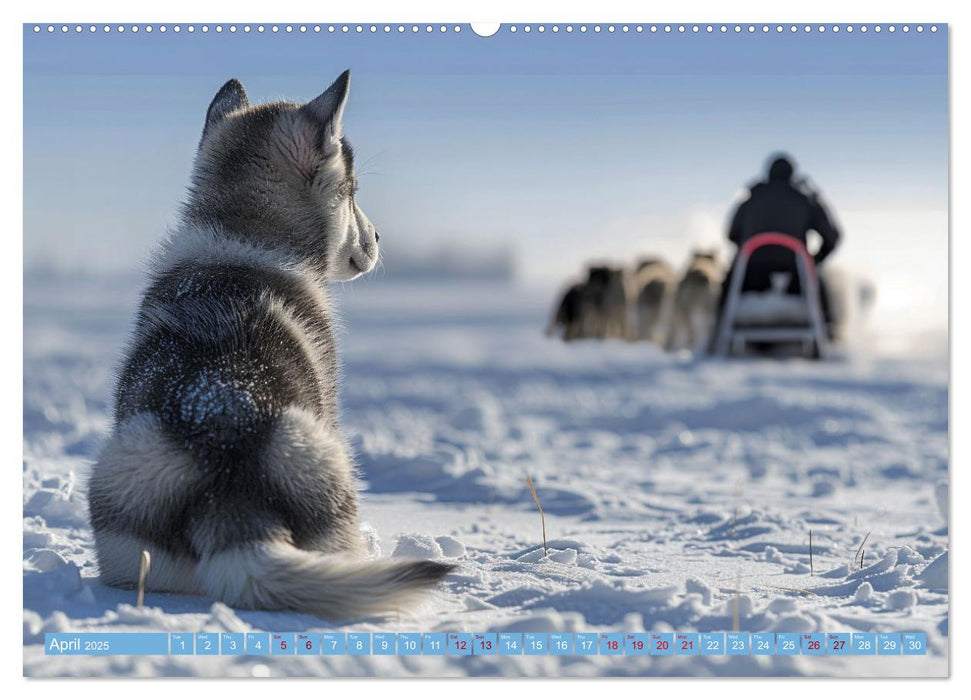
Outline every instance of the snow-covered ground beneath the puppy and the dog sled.
POLYGON ((459 565, 414 616, 341 624, 97 580, 83 484, 136 280, 25 274, 28 675, 941 676, 946 336, 841 361, 695 362, 542 337, 547 295, 335 290, 344 429, 381 556, 459 565), (928 348, 933 352, 928 354, 928 348), (547 513, 549 556, 526 476, 547 513), (810 571, 809 532, 813 537, 810 571), (869 533, 861 569, 854 561, 869 533), (926 657, 101 657, 51 631, 922 631, 926 657))

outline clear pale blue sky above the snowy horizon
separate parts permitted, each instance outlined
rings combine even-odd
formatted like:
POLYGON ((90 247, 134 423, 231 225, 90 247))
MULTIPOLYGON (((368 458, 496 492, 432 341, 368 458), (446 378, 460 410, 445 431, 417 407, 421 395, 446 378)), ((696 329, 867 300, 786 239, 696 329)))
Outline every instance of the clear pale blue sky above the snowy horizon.
POLYGON ((946 299, 944 28, 490 38, 25 28, 25 265, 136 265, 173 220, 226 79, 253 100, 302 100, 344 68, 360 203, 395 246, 509 245, 536 283, 589 257, 680 262, 719 242, 739 189, 786 150, 843 225, 834 260, 878 278, 885 301, 946 299))

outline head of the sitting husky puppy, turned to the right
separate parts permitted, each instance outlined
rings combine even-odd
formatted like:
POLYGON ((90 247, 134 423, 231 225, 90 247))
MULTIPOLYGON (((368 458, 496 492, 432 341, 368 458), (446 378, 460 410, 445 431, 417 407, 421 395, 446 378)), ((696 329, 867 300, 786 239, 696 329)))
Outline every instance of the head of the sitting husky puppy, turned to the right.
POLYGON ((344 71, 306 104, 251 105, 230 80, 213 98, 183 215, 248 243, 351 280, 378 261, 378 234, 355 201, 354 154, 344 138, 344 71))

